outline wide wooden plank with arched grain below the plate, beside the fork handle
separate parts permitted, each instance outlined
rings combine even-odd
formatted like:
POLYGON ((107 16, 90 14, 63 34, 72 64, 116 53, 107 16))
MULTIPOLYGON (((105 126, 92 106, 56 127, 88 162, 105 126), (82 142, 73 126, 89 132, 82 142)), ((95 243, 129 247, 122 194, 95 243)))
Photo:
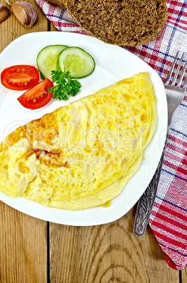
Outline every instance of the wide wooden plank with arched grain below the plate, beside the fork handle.
POLYGON ((135 237, 133 222, 134 208, 105 225, 51 223, 51 282, 179 282, 179 272, 165 262, 150 228, 144 237, 135 237))

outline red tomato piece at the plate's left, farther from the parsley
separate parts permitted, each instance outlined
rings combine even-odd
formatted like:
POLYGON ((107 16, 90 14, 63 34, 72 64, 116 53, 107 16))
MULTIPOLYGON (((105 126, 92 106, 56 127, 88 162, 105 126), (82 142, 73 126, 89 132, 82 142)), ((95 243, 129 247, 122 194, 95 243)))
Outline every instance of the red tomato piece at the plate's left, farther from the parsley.
POLYGON ((26 90, 39 82, 39 71, 32 65, 13 65, 1 73, 1 84, 7 89, 26 90))

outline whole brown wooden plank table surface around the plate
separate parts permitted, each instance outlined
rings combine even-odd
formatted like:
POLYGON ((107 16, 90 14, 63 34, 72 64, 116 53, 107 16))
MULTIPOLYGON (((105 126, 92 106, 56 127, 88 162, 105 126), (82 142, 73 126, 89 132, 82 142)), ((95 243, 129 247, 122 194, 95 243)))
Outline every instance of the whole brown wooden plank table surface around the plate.
MULTIPOLYGON (((30 2, 37 22, 23 27, 10 15, 0 23, 0 52, 22 34, 56 30, 30 2)), ((142 238, 132 234, 135 207, 120 220, 93 227, 38 220, 2 202, 0 210, 0 282, 187 282, 187 270, 169 268, 150 227, 142 238)))

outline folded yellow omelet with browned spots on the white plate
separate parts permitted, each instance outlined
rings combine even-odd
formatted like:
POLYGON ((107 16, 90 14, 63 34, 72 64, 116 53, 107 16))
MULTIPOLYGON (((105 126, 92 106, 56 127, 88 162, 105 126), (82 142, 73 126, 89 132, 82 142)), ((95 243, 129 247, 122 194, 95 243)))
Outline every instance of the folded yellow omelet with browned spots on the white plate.
POLYGON ((0 144, 0 189, 44 206, 109 206, 136 173, 157 124, 148 73, 32 120, 0 144))

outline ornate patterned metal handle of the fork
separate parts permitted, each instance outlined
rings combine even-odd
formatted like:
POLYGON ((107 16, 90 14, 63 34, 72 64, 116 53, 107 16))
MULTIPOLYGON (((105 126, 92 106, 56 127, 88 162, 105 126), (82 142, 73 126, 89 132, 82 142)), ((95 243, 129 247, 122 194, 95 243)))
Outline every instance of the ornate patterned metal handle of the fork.
POLYGON ((146 232, 148 220, 150 218, 150 213, 153 208, 153 203, 155 201, 155 196, 157 193, 157 185, 160 179, 160 172, 162 168, 164 153, 165 153, 165 149, 162 151, 162 156, 160 158, 159 164, 157 165, 157 170, 155 171, 155 175, 150 181, 150 184, 148 185, 146 191, 138 200, 136 215, 134 219, 134 228, 133 228, 133 234, 137 237, 144 236, 146 232))

